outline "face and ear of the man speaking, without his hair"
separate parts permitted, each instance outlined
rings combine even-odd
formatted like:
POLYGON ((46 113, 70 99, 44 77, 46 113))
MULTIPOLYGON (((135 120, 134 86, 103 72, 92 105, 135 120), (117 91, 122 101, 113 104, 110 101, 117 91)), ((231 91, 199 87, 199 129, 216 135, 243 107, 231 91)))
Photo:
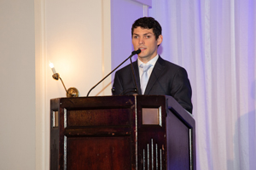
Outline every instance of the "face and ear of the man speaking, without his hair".
POLYGON ((145 29, 140 26, 133 30, 132 44, 134 50, 141 49, 142 52, 138 57, 143 63, 147 63, 153 59, 157 54, 157 47, 162 42, 163 37, 160 35, 155 39, 153 29, 145 29))

